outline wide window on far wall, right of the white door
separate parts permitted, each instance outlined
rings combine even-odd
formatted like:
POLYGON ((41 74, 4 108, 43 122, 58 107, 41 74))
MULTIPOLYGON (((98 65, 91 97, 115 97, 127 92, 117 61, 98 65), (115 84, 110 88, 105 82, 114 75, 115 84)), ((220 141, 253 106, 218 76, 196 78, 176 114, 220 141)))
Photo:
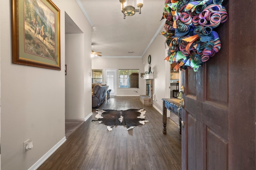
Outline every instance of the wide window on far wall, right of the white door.
POLYGON ((139 70, 118 70, 119 88, 139 88, 139 70))

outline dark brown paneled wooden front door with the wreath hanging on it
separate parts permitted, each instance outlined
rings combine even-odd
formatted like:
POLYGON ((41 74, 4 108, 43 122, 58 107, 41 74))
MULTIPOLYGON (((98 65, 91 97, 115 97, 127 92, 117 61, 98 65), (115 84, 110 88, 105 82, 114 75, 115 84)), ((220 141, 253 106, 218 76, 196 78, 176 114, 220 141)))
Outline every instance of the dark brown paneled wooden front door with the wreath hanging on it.
POLYGON ((198 72, 182 72, 183 170, 256 169, 256 2, 223 5, 221 50, 198 72))

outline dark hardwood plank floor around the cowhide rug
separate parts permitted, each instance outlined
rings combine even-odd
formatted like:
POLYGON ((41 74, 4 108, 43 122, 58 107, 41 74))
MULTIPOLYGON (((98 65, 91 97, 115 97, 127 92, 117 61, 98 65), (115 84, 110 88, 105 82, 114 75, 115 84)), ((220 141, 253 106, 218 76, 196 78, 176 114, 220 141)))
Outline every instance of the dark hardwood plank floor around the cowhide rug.
POLYGON ((146 109, 145 125, 127 131, 85 121, 38 170, 180 170, 181 135, 167 120, 167 134, 162 134, 162 115, 152 106, 144 106, 138 96, 116 96, 99 109, 146 109))

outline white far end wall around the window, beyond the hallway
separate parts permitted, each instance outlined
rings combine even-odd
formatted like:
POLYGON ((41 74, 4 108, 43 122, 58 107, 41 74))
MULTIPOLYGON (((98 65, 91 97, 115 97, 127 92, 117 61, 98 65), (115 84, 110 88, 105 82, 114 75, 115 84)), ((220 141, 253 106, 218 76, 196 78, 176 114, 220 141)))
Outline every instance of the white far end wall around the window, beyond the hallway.
MULTIPOLYGON (((92 69, 102 69, 104 78, 104 69, 116 69, 116 96, 139 96, 145 95, 145 80, 140 77, 144 71, 142 58, 92 58, 92 69), (139 69, 139 89, 118 89, 118 69, 139 69), (134 92, 138 91, 138 92, 134 92)), ((104 80, 102 82, 105 82, 104 80)))

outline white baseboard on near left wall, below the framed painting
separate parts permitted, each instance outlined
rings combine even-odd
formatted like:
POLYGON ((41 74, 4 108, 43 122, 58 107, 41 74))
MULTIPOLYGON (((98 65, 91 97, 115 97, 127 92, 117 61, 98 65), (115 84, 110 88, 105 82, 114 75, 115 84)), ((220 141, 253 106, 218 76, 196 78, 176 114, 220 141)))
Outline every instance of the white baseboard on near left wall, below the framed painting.
POLYGON ((52 149, 50 149, 42 158, 40 158, 34 165, 32 165, 28 170, 36 170, 41 166, 46 159, 48 159, 54 152, 57 150, 64 142, 66 141, 66 137, 62 138, 52 149))

